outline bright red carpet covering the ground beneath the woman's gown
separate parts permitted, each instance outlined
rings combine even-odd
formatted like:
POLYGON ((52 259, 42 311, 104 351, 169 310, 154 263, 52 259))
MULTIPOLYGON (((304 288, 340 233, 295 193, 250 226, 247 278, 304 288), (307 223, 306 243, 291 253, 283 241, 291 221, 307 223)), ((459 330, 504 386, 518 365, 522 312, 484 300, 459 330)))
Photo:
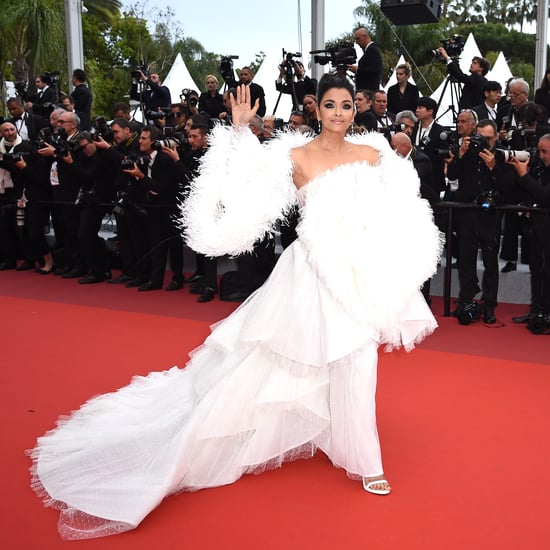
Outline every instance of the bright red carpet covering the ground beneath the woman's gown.
POLYGON ((0 273, 0 303, 3 548, 549 547, 550 338, 510 322, 525 306, 501 305, 499 328, 438 318, 438 331, 411 354, 381 354, 391 496, 367 495, 319 453, 170 497, 133 532, 68 543, 57 512, 29 487, 24 450, 93 394, 183 365, 235 304, 14 272, 0 273))

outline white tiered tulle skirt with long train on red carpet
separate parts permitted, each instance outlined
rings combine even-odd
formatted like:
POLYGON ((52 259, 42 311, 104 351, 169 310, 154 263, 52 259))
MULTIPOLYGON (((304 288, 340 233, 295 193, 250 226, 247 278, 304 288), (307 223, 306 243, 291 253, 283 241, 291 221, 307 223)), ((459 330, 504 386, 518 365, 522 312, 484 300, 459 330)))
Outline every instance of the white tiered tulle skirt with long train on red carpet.
MULTIPOLYGON (((403 341, 436 326, 420 293, 403 341)), ((65 539, 135 528, 167 495, 234 482, 317 449, 351 477, 382 473, 377 332, 346 314, 296 241, 184 369, 135 377, 39 438, 33 488, 65 539)))

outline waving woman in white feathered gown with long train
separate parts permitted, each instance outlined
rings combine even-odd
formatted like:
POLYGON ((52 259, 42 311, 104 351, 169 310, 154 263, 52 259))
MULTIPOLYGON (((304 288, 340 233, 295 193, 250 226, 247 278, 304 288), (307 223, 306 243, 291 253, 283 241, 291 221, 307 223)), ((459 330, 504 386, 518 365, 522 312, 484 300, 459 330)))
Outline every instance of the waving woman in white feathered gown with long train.
POLYGON ((347 139, 353 89, 319 83, 322 132, 262 146, 248 88, 214 131, 182 208, 190 246, 251 250, 301 205, 298 239, 268 281, 217 324, 184 369, 91 399, 37 441, 33 488, 65 539, 135 528, 167 495, 232 483, 322 450, 388 494, 376 429, 379 345, 436 327, 418 291, 440 235, 408 161, 376 134, 347 139))

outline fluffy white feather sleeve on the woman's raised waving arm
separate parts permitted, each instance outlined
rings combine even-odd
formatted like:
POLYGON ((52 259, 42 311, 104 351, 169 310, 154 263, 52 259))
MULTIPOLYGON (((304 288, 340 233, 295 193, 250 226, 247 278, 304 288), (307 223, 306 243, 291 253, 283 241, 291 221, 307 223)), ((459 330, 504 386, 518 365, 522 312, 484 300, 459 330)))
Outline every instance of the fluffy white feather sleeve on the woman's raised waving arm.
POLYGON ((246 127, 216 127, 181 205, 187 244, 207 256, 236 256, 273 233, 296 203, 290 151, 306 141, 285 134, 261 145, 246 127))

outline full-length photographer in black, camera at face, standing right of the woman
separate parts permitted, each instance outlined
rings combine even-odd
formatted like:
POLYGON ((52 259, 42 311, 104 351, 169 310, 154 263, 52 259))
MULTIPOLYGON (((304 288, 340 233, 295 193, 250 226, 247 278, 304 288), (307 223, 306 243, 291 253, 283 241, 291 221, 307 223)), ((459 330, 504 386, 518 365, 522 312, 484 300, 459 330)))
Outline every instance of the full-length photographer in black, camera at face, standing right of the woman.
MULTIPOLYGON (((461 115, 472 114, 463 111, 461 115)), ((459 115, 460 116, 460 115, 459 115)), ((465 314, 473 318, 482 314, 487 324, 496 322, 498 295, 498 250, 501 215, 494 207, 499 196, 515 185, 516 176, 500 155, 495 154, 496 124, 491 120, 477 123, 476 134, 462 138, 458 154, 448 165, 450 179, 458 180, 455 200, 477 203, 481 208, 457 209, 455 223, 458 236, 458 307, 455 315, 467 324, 465 314), (475 301, 480 291, 477 277, 477 255, 483 260, 482 304, 475 301)))

